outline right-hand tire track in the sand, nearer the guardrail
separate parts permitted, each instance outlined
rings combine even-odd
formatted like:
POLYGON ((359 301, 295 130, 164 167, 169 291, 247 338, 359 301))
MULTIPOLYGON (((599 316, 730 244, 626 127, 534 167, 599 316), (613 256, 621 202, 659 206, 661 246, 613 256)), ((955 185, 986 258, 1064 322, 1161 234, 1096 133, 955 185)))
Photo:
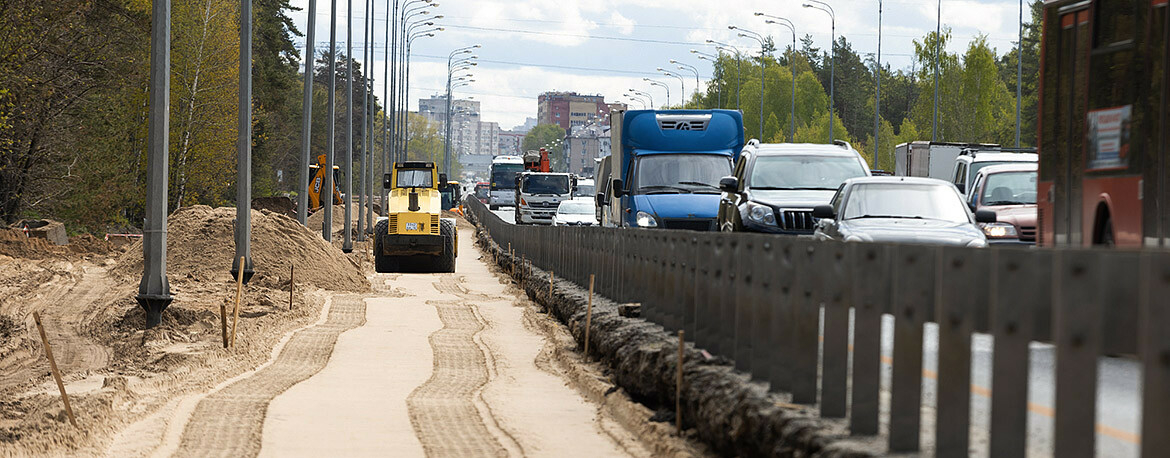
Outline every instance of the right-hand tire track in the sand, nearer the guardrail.
MULTIPOLYGON (((442 276, 434 283, 443 294, 461 296, 467 292, 457 280, 442 276)), ((486 328, 481 316, 466 301, 427 301, 443 327, 428 339, 434 351, 434 369, 424 384, 406 399, 414 432, 431 457, 508 456, 518 444, 500 429, 484 409, 480 394, 490 381, 488 355, 479 334, 486 328), (488 425, 486 421, 490 421, 488 425), (503 436, 507 445, 497 436, 503 436)))

